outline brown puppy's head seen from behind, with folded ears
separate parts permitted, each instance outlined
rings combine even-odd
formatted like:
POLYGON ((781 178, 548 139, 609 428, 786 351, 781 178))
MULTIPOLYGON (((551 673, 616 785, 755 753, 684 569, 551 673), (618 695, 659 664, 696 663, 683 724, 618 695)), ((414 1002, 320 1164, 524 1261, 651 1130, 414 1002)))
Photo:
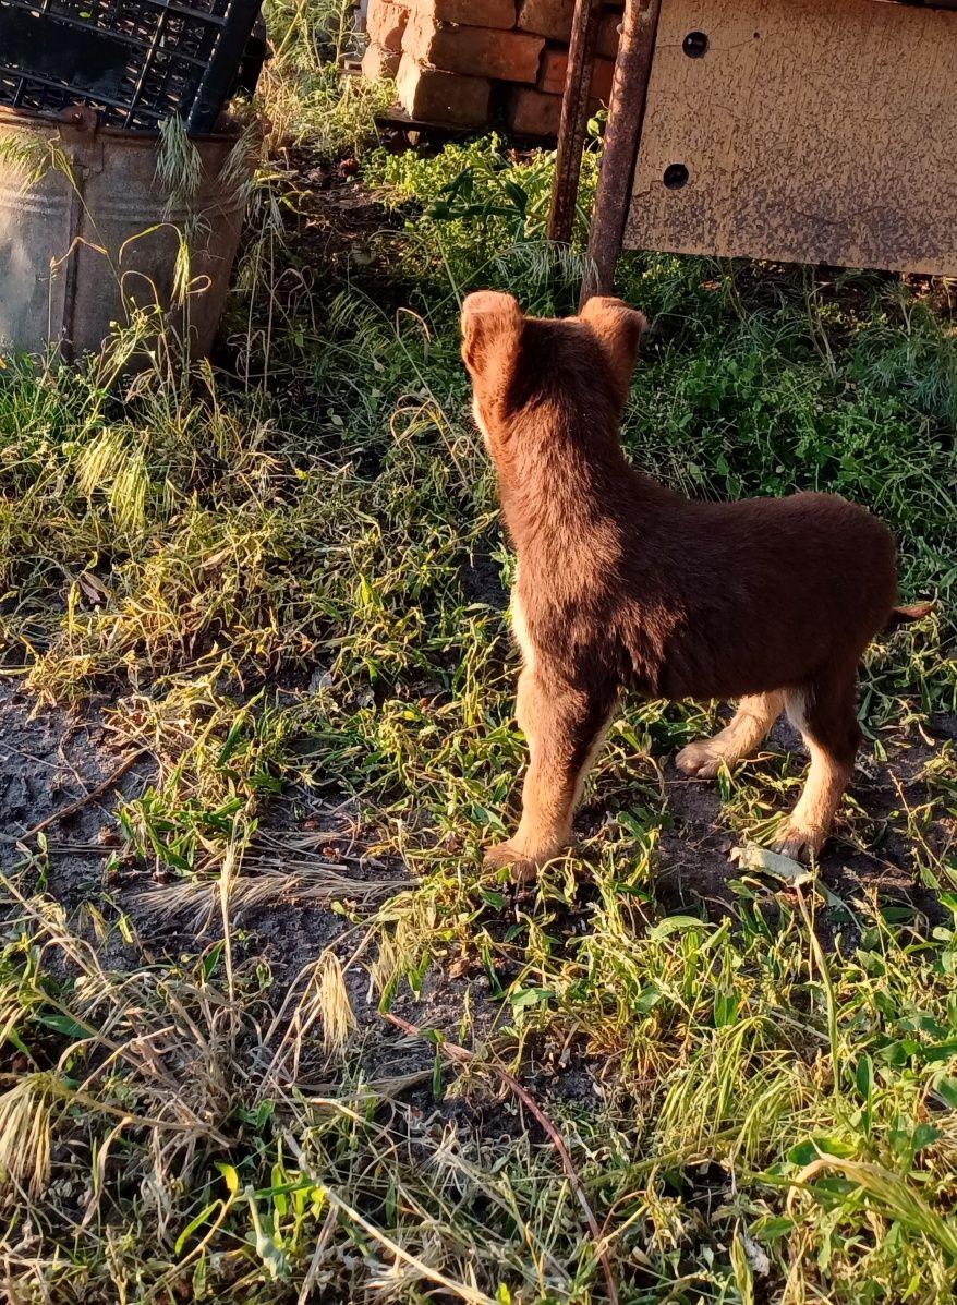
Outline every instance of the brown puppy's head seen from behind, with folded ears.
MULTIPOLYGON (((525 317, 511 295, 484 290, 462 305, 462 356, 472 378, 472 412, 501 462, 511 432, 535 410, 575 420, 621 418, 647 322, 621 299, 591 299, 579 317, 525 317)), ((617 431, 613 432, 617 437, 617 431)))

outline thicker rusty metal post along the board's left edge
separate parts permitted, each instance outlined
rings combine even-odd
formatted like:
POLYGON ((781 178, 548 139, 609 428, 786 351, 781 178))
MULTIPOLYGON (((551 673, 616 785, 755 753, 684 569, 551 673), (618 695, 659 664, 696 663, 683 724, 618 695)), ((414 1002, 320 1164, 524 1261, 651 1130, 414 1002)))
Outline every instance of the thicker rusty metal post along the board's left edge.
POLYGON ((592 295, 610 294, 614 284, 614 268, 625 239, 625 223, 641 140, 660 13, 661 0, 626 0, 625 4, 622 39, 618 46, 598 174, 598 193, 588 241, 589 268, 582 286, 580 304, 592 295))

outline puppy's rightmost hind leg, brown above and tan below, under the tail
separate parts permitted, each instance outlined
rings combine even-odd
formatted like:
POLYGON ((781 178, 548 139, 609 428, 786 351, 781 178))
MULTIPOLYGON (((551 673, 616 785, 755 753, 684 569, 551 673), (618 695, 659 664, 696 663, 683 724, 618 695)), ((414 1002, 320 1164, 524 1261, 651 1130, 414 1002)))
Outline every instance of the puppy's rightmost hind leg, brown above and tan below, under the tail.
POLYGON ((861 726, 854 706, 857 667, 788 690, 788 716, 803 735, 811 769, 776 851, 795 860, 820 851, 854 773, 861 726))

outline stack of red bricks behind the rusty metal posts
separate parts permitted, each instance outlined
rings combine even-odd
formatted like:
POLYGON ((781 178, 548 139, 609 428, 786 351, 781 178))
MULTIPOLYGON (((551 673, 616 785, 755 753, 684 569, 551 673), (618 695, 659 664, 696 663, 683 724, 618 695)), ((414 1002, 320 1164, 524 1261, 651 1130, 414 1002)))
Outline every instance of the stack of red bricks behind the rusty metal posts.
MULTIPOLYGON (((622 0, 605 5, 595 104, 611 91, 622 0)), ((575 0, 369 0, 365 77, 395 77, 419 123, 555 136, 575 0)))

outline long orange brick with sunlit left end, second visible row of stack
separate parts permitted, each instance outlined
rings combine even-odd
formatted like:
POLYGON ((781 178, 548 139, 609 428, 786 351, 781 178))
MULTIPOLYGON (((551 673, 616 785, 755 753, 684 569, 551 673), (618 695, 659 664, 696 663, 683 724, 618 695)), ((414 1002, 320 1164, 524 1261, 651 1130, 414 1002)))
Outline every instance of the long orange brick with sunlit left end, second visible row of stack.
POLYGON ((420 64, 447 73, 535 82, 545 42, 523 31, 492 27, 446 27, 413 14, 405 27, 403 52, 420 64))

